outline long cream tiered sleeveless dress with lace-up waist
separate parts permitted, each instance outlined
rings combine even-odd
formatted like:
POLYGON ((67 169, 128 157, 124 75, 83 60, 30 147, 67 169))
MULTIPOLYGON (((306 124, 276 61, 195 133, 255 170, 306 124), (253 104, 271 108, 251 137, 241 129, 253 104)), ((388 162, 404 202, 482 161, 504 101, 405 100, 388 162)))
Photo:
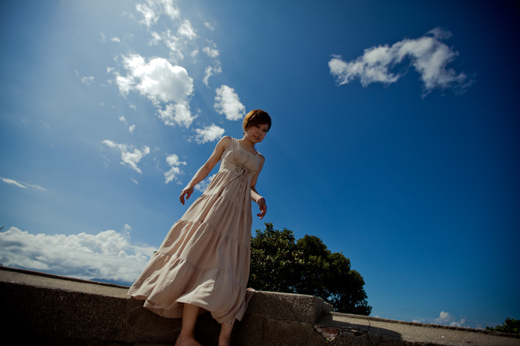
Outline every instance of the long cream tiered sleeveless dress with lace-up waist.
POLYGON ((183 303, 210 311, 218 323, 241 320, 251 258, 251 179, 260 164, 231 138, 220 168, 202 196, 166 235, 128 290, 144 307, 178 318, 183 303))

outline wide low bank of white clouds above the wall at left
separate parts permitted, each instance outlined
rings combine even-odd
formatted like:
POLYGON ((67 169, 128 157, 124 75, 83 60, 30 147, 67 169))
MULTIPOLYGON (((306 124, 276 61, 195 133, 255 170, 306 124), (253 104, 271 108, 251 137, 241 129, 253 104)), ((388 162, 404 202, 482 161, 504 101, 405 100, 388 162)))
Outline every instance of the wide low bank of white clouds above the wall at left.
POLYGON ((133 282, 156 248, 130 242, 131 228, 98 234, 31 234, 11 227, 0 232, 0 262, 83 279, 133 282))

